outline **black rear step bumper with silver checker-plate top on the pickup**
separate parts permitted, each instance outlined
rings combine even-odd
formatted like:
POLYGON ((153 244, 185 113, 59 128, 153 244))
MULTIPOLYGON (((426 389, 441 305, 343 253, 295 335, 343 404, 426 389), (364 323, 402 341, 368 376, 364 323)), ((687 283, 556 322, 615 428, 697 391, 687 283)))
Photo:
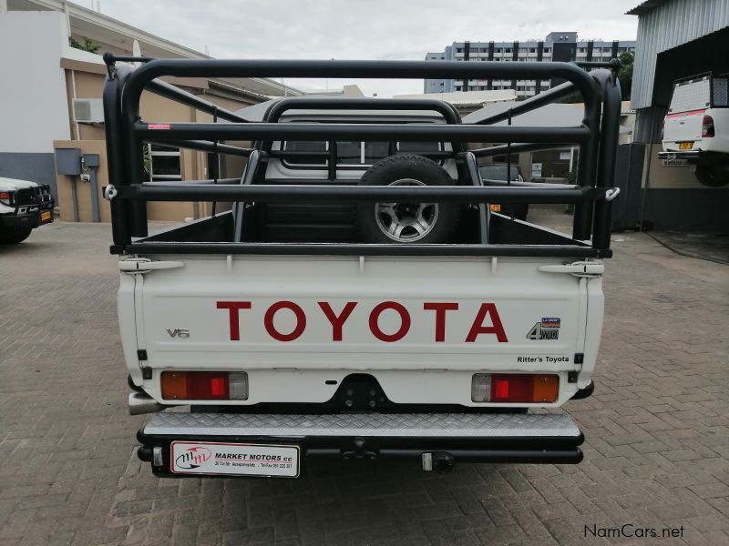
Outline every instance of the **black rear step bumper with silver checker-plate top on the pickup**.
MULTIPOLYGON (((315 458, 578 463, 582 433, 567 414, 354 413, 274 415, 159 413, 139 430, 139 459, 170 470, 172 441, 295 445, 315 458)), ((447 468, 446 468, 447 467, 447 468)), ((430 470, 430 469, 425 469, 430 470)))

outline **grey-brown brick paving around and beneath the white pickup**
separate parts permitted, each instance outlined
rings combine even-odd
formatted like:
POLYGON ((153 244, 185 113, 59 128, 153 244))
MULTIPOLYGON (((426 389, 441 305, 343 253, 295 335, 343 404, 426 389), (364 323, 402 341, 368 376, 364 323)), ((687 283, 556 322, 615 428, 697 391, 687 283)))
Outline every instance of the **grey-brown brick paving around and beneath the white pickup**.
POLYGON ((729 267, 613 237, 579 466, 157 480, 133 456, 109 228, 0 248, 0 544, 729 544, 729 267), (679 539, 594 538, 623 524, 679 539), (600 531, 600 530, 603 531, 600 531))

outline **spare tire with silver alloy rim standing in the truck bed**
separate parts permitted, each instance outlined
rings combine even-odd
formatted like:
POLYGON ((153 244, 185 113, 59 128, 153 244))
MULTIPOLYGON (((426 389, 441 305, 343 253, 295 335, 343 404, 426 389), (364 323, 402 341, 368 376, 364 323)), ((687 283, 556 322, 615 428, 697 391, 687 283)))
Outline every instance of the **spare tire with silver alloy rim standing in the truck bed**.
MULTIPOLYGON (((369 167, 360 186, 452 186, 446 170, 427 157, 385 157, 369 167)), ((365 242, 447 243, 460 218, 458 203, 359 203, 357 227, 365 242)))

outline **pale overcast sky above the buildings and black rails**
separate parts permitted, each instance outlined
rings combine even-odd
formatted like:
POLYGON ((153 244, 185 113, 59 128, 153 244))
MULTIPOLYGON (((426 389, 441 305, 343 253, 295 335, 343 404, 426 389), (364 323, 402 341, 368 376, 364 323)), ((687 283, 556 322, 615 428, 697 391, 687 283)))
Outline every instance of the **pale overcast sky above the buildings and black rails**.
MULTIPOLYGON (((76 0, 96 7, 97 0, 76 0)), ((101 0, 101 12, 217 58, 423 60, 455 41, 634 40, 640 0, 101 0)), ((144 51, 142 51, 144 54, 144 51)), ((365 96, 422 93, 422 80, 295 80, 300 88, 354 83, 365 96)))

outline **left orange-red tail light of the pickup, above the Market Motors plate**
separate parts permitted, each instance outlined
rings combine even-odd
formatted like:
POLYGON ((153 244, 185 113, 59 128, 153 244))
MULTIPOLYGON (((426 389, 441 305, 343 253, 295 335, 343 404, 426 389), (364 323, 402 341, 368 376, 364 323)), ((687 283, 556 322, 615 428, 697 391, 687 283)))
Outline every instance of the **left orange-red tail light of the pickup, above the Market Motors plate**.
POLYGON ((162 398, 168 400, 245 400, 244 371, 163 371, 162 398))

